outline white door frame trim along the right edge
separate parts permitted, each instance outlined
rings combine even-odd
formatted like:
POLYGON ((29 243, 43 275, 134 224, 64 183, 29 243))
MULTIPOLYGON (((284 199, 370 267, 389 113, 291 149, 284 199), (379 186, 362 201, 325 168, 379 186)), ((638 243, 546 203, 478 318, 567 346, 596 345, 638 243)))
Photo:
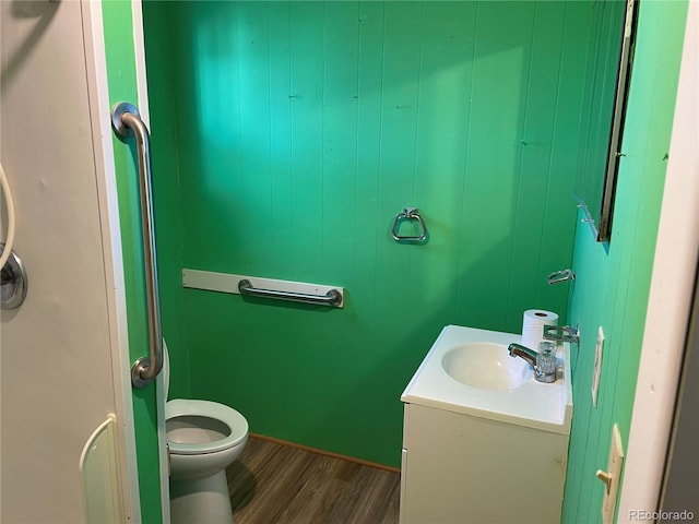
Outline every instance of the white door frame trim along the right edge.
POLYGON ((698 0, 689 2, 686 27, 617 522, 652 522, 657 510, 697 270, 698 0))

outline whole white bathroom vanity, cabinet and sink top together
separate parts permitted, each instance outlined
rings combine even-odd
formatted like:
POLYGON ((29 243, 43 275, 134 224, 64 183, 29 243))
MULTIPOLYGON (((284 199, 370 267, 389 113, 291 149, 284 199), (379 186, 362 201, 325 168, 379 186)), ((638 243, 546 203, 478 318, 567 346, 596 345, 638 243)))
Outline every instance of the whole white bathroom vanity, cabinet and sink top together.
POLYGON ((560 522, 568 347, 559 348, 556 382, 544 384, 512 367, 507 346, 520 341, 454 325, 440 333, 401 396, 401 524, 560 522), (498 378, 508 366, 516 380, 498 378))

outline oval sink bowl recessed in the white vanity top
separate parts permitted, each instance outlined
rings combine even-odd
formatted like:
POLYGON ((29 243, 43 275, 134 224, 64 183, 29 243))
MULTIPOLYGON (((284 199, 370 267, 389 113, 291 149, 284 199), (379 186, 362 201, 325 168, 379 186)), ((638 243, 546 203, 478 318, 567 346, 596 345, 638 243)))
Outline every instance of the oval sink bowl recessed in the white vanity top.
POLYGON ((516 390, 532 378, 532 367, 512 358, 505 344, 467 342, 449 349, 441 359, 447 374, 482 390, 516 390))

